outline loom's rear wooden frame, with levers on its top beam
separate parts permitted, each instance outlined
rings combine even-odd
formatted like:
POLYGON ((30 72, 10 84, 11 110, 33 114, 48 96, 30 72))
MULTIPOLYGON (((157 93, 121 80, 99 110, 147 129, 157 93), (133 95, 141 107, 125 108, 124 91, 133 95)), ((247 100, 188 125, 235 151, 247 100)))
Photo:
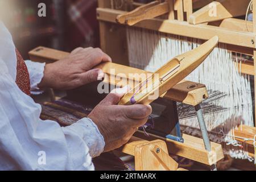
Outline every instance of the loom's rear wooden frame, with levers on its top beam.
MULTIPOLYGON (((154 1, 147 5, 135 1, 126 3, 129 6, 117 10, 113 8, 113 1, 98 0, 97 9, 101 48, 120 64, 129 63, 127 26, 201 40, 208 40, 217 35, 220 43, 224 43, 229 51, 253 56, 255 60, 256 11, 253 11, 253 22, 236 18, 245 15, 249 0, 166 0, 154 1), (213 7, 217 11, 217 16, 209 16, 209 11, 213 7), (116 35, 118 39, 115 38, 116 35)), ((253 10, 256 9, 256 0, 252 1, 252 7, 253 10)), ((254 61, 244 61, 237 68, 241 73, 254 76, 255 89, 254 61)), ((240 126, 234 134, 238 141, 248 144, 249 156, 254 158, 253 143, 246 142, 246 138, 249 137, 253 141, 255 127, 240 126)))

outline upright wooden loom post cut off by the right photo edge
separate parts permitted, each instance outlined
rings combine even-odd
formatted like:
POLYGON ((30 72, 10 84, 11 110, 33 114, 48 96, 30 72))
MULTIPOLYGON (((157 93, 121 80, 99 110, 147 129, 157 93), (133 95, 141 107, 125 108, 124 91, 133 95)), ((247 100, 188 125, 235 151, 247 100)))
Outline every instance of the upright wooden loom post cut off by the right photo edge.
MULTIPOLYGON (((256 37, 256 0, 253 0, 253 32, 254 32, 254 40, 251 40, 255 45, 255 37, 256 37)), ((254 100, 256 98, 256 49, 253 51, 253 59, 254 59, 254 100)), ((254 112, 255 112, 255 126, 256 126, 256 100, 254 102, 254 112)))

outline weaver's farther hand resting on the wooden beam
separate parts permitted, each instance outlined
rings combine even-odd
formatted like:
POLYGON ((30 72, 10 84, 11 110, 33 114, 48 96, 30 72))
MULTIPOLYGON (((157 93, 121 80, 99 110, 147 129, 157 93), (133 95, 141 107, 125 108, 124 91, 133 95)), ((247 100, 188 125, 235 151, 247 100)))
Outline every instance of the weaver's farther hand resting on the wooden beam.
POLYGON ((90 82, 102 80, 104 72, 92 69, 101 62, 112 61, 100 48, 76 48, 68 57, 47 64, 39 88, 74 89, 90 82))

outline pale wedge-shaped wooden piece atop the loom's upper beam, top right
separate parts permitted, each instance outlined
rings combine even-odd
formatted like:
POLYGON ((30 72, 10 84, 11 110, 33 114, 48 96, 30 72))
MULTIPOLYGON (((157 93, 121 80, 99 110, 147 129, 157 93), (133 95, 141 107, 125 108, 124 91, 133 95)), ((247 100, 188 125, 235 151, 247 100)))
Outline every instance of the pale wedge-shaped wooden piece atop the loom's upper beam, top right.
POLYGON ((236 2, 234 0, 213 1, 190 15, 188 22, 199 24, 245 15, 249 3, 250 0, 236 0, 236 2))

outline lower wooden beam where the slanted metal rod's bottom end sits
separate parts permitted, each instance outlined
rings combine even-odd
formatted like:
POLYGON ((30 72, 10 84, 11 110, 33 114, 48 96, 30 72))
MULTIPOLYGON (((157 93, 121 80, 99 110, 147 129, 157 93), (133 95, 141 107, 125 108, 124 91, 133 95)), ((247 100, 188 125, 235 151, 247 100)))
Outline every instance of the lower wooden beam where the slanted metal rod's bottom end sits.
POLYGON ((199 163, 207 164, 208 166, 212 166, 212 164, 215 164, 224 158, 221 144, 211 142, 212 151, 208 152, 205 150, 203 139, 192 137, 190 135, 183 134, 182 137, 184 138, 184 143, 176 142, 153 134, 149 135, 150 137, 146 137, 142 131, 137 131, 137 133, 134 134, 135 137, 150 141, 156 139, 164 140, 167 144, 168 151, 171 154, 195 160, 199 163))

